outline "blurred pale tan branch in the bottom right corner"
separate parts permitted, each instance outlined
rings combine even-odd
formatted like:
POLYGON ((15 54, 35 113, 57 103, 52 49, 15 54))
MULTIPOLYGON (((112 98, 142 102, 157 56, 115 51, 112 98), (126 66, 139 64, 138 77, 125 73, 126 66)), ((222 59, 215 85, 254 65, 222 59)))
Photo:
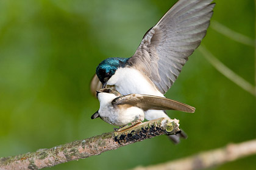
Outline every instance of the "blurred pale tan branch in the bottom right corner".
POLYGON ((253 154, 256 154, 256 140, 245 141, 239 144, 228 144, 224 148, 202 152, 191 157, 180 158, 179 160, 158 165, 137 167, 133 170, 205 169, 253 154))

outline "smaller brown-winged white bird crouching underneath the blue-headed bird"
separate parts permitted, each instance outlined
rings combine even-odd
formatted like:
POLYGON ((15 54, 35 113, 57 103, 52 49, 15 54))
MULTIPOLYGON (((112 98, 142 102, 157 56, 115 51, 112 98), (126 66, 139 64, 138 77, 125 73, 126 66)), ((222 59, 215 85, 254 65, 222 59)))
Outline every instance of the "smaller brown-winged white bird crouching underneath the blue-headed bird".
POLYGON ((194 112, 194 107, 179 101, 152 95, 130 94, 121 95, 114 89, 101 89, 97 91, 100 107, 91 119, 100 117, 102 120, 115 126, 125 126, 129 123, 144 120, 144 111, 181 110, 194 112))

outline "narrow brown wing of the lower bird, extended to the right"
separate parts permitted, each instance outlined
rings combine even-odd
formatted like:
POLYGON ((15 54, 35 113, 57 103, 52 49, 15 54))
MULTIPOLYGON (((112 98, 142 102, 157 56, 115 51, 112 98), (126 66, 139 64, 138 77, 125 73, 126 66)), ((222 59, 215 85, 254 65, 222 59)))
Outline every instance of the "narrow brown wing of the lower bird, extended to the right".
POLYGON ((180 110, 183 112, 194 113, 194 107, 179 101, 152 95, 131 94, 115 98, 112 104, 129 104, 140 107, 143 110, 180 110))

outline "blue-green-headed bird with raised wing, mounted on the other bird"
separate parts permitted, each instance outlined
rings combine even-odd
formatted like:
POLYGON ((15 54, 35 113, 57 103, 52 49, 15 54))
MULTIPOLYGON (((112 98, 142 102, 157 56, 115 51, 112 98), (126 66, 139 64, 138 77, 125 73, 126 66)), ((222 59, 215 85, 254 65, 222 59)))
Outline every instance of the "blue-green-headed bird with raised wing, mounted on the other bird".
MULTIPOLYGON (((177 1, 146 32, 132 57, 107 58, 98 65, 91 80, 91 93, 95 93, 99 87, 112 87, 122 95, 165 97, 188 56, 205 37, 214 7, 212 0, 177 1)), ((145 112, 146 120, 160 117, 169 116, 165 110, 145 112)), ((179 137, 172 140, 178 143, 179 137)))

